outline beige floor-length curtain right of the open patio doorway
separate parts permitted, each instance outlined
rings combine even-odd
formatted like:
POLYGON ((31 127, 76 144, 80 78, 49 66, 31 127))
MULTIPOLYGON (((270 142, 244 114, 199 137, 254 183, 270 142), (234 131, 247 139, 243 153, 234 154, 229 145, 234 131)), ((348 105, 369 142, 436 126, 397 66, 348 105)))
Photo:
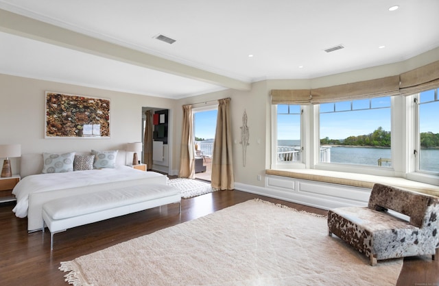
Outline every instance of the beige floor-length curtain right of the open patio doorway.
POLYGON ((212 187, 216 190, 233 190, 232 130, 230 127, 230 99, 218 101, 217 128, 213 142, 212 187))

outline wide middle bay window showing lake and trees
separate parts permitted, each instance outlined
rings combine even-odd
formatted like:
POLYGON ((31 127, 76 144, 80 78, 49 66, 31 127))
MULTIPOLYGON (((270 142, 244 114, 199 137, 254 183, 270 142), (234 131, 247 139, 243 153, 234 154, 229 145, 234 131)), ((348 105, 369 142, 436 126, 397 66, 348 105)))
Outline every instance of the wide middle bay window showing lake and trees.
POLYGON ((392 166, 390 96, 320 104, 320 162, 392 166))

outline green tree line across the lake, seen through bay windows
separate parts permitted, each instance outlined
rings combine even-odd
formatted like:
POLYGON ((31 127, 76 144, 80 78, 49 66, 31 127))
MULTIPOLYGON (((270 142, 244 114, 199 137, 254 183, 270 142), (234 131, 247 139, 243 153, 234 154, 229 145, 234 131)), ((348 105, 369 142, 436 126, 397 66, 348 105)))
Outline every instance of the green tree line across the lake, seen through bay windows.
MULTIPOLYGON (((383 127, 378 127, 368 135, 349 136, 348 138, 338 140, 323 138, 320 139, 321 145, 351 145, 351 146, 375 146, 390 147, 390 131, 385 131, 383 127)), ((420 146, 422 148, 439 147, 439 133, 424 132, 420 133, 420 146)))

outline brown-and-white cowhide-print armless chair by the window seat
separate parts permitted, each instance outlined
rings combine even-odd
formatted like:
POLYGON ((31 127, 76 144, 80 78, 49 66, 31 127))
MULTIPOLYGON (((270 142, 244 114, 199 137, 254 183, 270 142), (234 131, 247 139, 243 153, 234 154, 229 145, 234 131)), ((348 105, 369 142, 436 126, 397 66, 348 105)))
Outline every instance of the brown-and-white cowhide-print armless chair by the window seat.
POLYGON ((328 213, 329 235, 378 260, 432 255, 439 248, 439 198, 375 184, 368 207, 340 207, 328 213), (388 209, 410 217, 398 218, 388 209))

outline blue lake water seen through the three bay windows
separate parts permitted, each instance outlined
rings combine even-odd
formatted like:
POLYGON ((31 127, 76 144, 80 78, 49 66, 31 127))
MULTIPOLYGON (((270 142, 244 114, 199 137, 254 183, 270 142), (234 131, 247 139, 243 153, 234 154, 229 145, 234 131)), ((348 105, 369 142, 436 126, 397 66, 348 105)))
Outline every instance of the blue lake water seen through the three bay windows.
MULTIPOLYGON (((300 140, 278 140, 278 146, 298 146, 300 140)), ((420 150, 420 170, 439 172, 439 149, 420 150)), ((390 148, 331 147, 331 163, 378 166, 378 159, 391 159, 390 148)), ((383 161, 381 166, 390 167, 383 161)))

